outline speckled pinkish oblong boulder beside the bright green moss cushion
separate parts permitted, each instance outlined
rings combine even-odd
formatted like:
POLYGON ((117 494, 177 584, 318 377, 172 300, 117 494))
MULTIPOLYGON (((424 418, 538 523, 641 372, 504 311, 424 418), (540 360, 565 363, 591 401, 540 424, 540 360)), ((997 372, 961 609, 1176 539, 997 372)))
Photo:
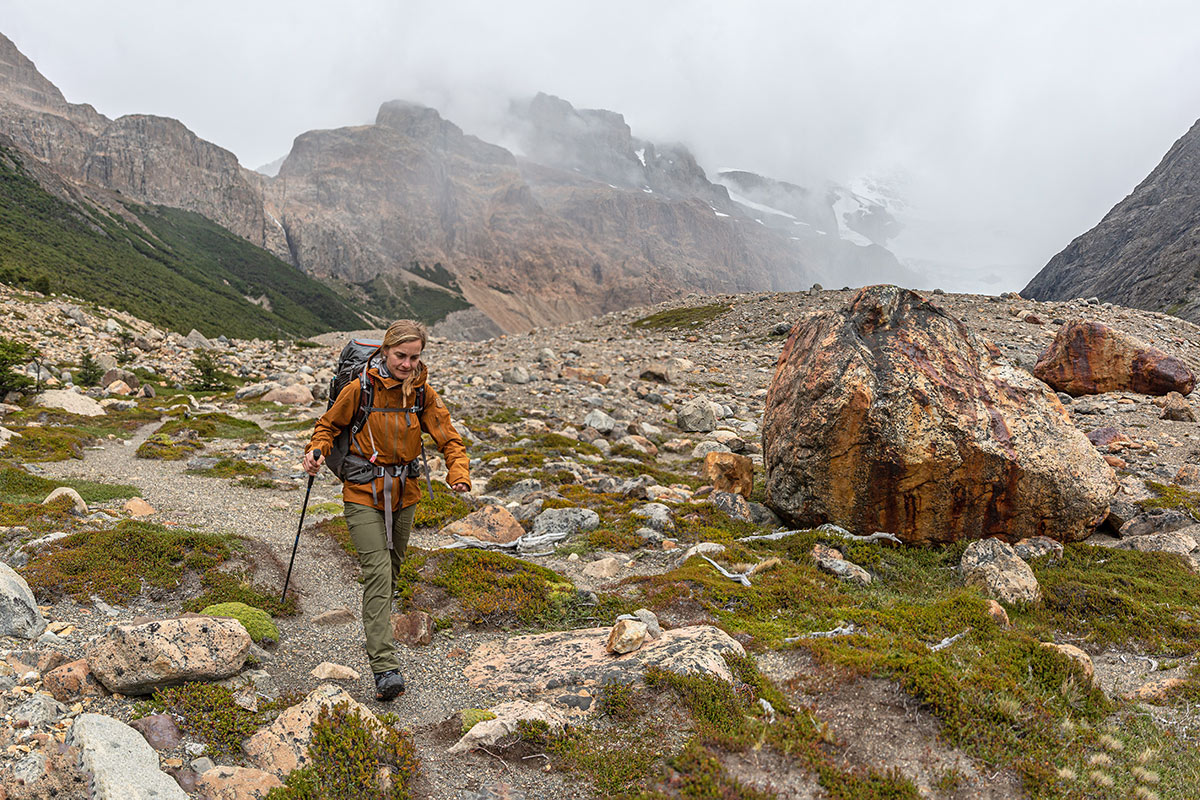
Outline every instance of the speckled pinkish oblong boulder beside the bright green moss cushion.
POLYGON ((150 694, 190 680, 228 678, 246 663, 250 633, 217 616, 114 625, 88 643, 91 673, 110 692, 150 694))

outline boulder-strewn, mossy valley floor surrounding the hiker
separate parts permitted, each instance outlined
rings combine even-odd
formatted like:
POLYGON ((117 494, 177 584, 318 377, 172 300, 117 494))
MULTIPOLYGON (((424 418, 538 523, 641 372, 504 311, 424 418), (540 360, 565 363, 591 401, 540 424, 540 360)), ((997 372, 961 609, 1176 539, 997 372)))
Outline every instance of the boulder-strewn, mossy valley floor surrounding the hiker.
POLYGON ((474 486, 451 498, 431 453, 396 600, 409 690, 385 705, 328 474, 278 596, 300 455, 347 335, 182 337, 0 293, 0 336, 40 350, 44 390, 5 398, 0 421, 0 796, 256 798, 329 787, 344 778, 322 765, 350 758, 378 796, 462 800, 1194 786, 1189 323, 1096 300, 814 288, 434 338, 474 486), (1072 320, 1124 337, 1082 360, 1124 384, 1073 396, 1033 378, 1058 380, 1043 356, 1072 320), (84 348, 104 389, 71 386, 84 348), (192 389, 202 355, 228 389, 192 389), (1134 391, 1134 362, 1166 363, 1178 391, 1134 391), (794 389, 808 399, 790 404, 794 389), (859 393, 871 414, 838 410, 859 393), (839 443, 895 469, 827 481, 839 443), (1021 474, 974 455, 1004 447, 1021 474), (995 486, 1003 516, 947 513, 906 469, 995 486), (820 504, 792 505, 822 481, 820 504), (42 504, 55 486, 74 494, 42 504), (1094 492, 1110 506, 1098 529, 1094 492), (892 495, 912 498, 910 517, 864 515, 892 495), (1069 524, 1026 524, 1076 503, 1069 524), (352 746, 330 718, 374 722, 352 746))

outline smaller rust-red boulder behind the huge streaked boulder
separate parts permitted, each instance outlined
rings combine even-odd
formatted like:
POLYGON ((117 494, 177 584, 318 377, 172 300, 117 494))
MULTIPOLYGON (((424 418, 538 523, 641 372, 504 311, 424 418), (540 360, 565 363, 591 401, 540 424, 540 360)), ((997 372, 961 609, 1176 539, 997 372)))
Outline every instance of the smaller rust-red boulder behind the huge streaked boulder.
POLYGON ((1187 395, 1196 378, 1183 361, 1108 325, 1084 319, 1058 329, 1033 374, 1056 391, 1080 395, 1187 395))

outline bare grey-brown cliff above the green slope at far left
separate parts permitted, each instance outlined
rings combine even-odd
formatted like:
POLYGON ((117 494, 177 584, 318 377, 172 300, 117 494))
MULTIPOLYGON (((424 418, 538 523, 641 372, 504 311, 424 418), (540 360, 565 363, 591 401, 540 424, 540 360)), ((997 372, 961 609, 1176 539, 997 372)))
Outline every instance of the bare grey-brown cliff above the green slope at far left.
POLYGON ((176 120, 109 120, 68 103, 54 84, 0 35, 0 132, 64 176, 136 200, 203 213, 264 245, 263 204, 238 158, 176 120))

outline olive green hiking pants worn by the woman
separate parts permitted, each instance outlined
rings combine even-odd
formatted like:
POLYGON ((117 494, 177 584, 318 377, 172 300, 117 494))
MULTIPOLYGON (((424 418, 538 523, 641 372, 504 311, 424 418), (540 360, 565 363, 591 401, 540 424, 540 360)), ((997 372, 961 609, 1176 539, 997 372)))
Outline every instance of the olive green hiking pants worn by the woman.
POLYGON ((367 638, 371 672, 400 669, 391 633, 391 595, 413 531, 416 504, 402 509, 391 521, 392 549, 388 549, 383 511, 358 503, 346 504, 346 525, 362 567, 362 630, 367 638))

